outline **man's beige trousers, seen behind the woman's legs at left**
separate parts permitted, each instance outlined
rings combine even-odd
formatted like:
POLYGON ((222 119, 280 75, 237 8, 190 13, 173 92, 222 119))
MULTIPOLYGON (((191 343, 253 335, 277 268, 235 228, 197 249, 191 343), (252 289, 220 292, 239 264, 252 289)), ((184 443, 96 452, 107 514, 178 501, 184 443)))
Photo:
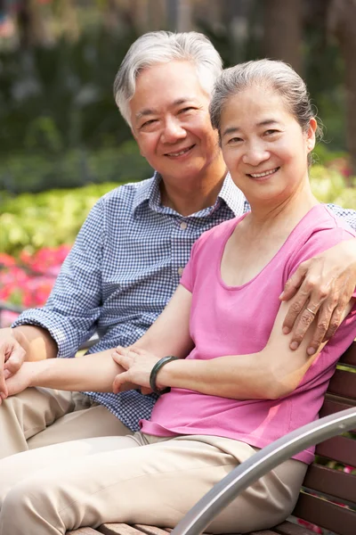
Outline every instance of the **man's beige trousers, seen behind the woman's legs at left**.
POLYGON ((0 459, 67 440, 131 434, 116 416, 79 392, 28 388, 0 406, 0 459))

